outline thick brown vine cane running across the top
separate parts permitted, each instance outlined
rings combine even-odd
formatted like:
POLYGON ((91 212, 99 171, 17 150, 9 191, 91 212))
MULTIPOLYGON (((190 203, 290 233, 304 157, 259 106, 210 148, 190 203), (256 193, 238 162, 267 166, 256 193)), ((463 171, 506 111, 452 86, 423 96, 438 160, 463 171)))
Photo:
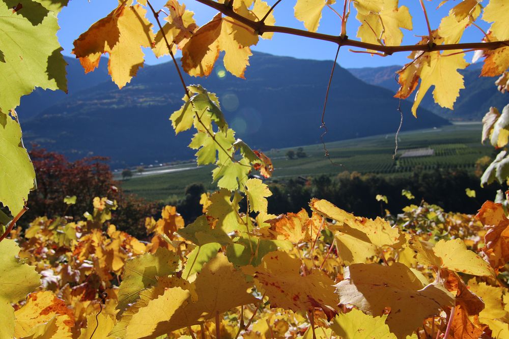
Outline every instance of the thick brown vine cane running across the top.
POLYGON ((380 46, 376 44, 370 44, 362 41, 351 40, 348 37, 339 35, 328 35, 316 32, 308 32, 307 30, 296 29, 285 26, 272 26, 266 25, 261 21, 252 21, 242 15, 233 11, 233 9, 225 6, 224 4, 217 3, 213 0, 196 0, 197 2, 207 5, 213 9, 218 10, 226 16, 229 16, 235 20, 238 20, 245 25, 253 28, 255 32, 258 32, 259 35, 264 33, 284 33, 291 34, 300 37, 312 38, 316 40, 329 41, 336 44, 340 44, 342 46, 353 46, 358 48, 372 49, 375 51, 383 52, 385 54, 393 54, 397 52, 410 52, 410 51, 443 51, 443 50, 454 50, 454 49, 482 49, 482 50, 493 50, 497 48, 501 48, 507 46, 509 44, 509 40, 507 41, 495 41, 495 42, 477 42, 477 43, 461 43, 461 44, 446 44, 446 45, 402 45, 402 46, 380 46))

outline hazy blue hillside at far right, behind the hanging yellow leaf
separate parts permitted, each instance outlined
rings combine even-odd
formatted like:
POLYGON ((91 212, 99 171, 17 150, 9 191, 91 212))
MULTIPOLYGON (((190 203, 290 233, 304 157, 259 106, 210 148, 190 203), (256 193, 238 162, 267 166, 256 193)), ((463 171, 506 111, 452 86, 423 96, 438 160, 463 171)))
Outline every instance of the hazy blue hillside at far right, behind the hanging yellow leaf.
MULTIPOLYGON (((461 70, 465 79, 465 89, 460 90, 460 97, 457 99, 454 110, 442 108, 433 99, 431 88, 420 107, 424 107, 449 120, 474 120, 480 121, 491 106, 502 109, 509 103, 509 95, 500 93, 495 81, 498 77, 479 77, 482 64, 470 65, 461 70)), ((394 73, 401 69, 401 66, 387 66, 374 68, 353 68, 348 71, 362 81, 390 89, 393 94, 398 91, 399 85, 394 80, 394 73)), ((408 98, 413 101, 414 94, 408 98)), ((419 111, 418 111, 418 114, 419 111)))

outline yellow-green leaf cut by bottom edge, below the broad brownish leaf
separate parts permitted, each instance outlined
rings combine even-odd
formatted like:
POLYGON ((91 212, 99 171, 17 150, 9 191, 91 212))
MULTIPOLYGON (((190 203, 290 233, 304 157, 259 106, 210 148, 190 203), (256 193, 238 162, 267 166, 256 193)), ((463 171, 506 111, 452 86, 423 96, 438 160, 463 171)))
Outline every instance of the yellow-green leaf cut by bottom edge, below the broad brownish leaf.
POLYGON ((385 324, 387 315, 373 317, 360 310, 353 309, 348 313, 338 314, 330 328, 343 338, 348 339, 395 339, 385 324))

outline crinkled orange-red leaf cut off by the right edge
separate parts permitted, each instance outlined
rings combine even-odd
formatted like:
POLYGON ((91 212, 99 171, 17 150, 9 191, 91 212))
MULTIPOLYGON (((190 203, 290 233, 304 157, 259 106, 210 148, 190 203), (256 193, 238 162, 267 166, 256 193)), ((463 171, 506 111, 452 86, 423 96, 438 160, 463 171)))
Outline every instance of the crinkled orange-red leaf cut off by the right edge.
POLYGON ((475 216, 488 230, 484 236, 483 252, 491 267, 499 269, 509 261, 509 219, 502 204, 486 201, 475 216))

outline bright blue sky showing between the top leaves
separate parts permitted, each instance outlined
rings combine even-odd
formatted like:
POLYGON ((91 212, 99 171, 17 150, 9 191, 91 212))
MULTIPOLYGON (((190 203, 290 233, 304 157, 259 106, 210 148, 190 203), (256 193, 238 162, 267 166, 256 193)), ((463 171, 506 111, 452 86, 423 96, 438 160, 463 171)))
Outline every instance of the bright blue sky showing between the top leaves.
MULTIPOLYGON (((182 0, 180 0, 182 1, 182 0)), ((268 0, 269 5, 275 3, 276 0, 268 0)), ((436 7, 441 0, 426 1, 425 5, 428 9, 430 23, 432 29, 438 28, 440 19, 447 15, 449 9, 459 3, 459 0, 450 0, 450 4, 444 5, 439 10, 436 7)), ((165 0, 151 0, 152 5, 158 9, 166 3, 165 0)), ((194 0, 185 0, 187 8, 193 11, 194 18, 199 25, 205 24, 216 13, 215 10, 202 5, 194 0)), ((293 7, 295 0, 283 0, 275 8, 274 16, 277 25, 290 26, 304 29, 302 22, 293 16, 293 7)), ((342 11, 342 1, 333 5, 338 12, 342 11)), ((486 5, 487 1, 483 4, 486 5)), ((58 34, 60 43, 64 47, 64 54, 70 55, 73 48, 72 42, 81 33, 85 32, 91 24, 106 16, 118 4, 117 0, 72 0, 68 7, 64 8, 59 15, 61 30, 58 34)), ((400 6, 407 6, 412 15, 414 29, 412 32, 403 30, 405 39, 403 44, 415 44, 419 38, 415 36, 428 35, 428 29, 422 9, 418 0, 400 0, 400 6)), ((353 10, 353 6, 352 6, 353 10)), ((355 20, 355 13, 352 13, 347 27, 347 34, 350 38, 355 38, 358 22, 355 20)), ((149 16, 150 17, 150 16, 149 16)), ((153 20, 152 20, 153 21, 153 20)), ((487 30, 489 24, 478 19, 477 23, 487 30)), ((322 20, 318 32, 325 34, 338 34, 340 30, 339 18, 328 8, 323 11, 322 20)), ((475 27, 469 27, 463 36, 462 42, 478 42, 482 39, 483 34, 475 27)), ((319 60, 333 59, 337 46, 323 41, 315 41, 312 39, 295 37, 284 34, 274 34, 272 40, 261 40, 257 46, 252 47, 254 51, 266 52, 275 55, 294 56, 298 58, 309 58, 319 60)), ((407 55, 409 53, 396 53, 392 56, 380 57, 371 56, 369 54, 351 53, 349 47, 343 47, 338 59, 339 64, 345 68, 358 67, 378 67, 388 65, 403 65, 408 62, 407 55)), ((470 58, 467 58, 469 61, 470 58)), ((146 62, 149 65, 169 61, 168 58, 156 59, 150 50, 146 50, 146 62)))

